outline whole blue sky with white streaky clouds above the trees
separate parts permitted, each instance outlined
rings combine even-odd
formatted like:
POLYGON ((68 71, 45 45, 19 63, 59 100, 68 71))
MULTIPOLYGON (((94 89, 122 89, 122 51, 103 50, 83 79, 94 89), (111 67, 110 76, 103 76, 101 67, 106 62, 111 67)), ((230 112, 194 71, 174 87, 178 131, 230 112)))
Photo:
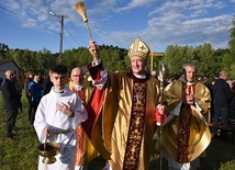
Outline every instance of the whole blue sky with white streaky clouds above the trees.
MULTIPOLYGON (((1 0, 0 43, 10 48, 59 52, 87 47, 87 24, 76 12, 77 0, 1 0), (56 16, 52 16, 54 12, 56 16)), ((211 43, 227 48, 235 15, 235 0, 85 0, 88 25, 98 44, 128 48, 135 38, 155 52, 168 45, 211 43)))

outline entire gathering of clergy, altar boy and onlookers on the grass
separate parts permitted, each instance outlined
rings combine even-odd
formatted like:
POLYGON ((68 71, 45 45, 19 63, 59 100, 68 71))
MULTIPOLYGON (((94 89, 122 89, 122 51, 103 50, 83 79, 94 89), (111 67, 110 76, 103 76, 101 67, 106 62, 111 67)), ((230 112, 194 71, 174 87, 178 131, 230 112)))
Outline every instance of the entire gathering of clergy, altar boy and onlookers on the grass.
MULTIPOLYGON (((217 135, 208 124, 235 122, 235 83, 226 81, 227 72, 209 82, 189 61, 182 75, 163 80, 156 71, 146 71, 150 50, 138 38, 128 49, 131 70, 113 72, 105 69, 99 50, 90 41, 88 73, 79 67, 69 72, 59 64, 43 82, 30 71, 22 87, 38 140, 60 145, 57 161, 47 170, 87 170, 97 157, 103 170, 147 170, 153 148, 167 159, 169 170, 197 170, 211 137, 217 135)), ((22 110, 16 84, 15 72, 5 71, 1 92, 8 140, 15 140, 12 131, 22 110)), ((40 170, 45 168, 42 160, 40 156, 40 170)))

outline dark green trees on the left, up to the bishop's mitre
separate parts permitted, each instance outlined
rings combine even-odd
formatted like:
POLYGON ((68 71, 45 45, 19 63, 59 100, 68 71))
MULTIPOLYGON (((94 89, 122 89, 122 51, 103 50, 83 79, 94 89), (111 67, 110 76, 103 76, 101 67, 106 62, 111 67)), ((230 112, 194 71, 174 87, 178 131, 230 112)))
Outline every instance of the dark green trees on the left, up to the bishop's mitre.
MULTIPOLYGON (((124 48, 102 45, 100 46, 100 55, 110 70, 125 70, 128 67, 125 63, 127 50, 124 48)), ((0 59, 13 59, 24 72, 34 70, 35 72, 47 73, 48 69, 58 63, 65 64, 69 69, 85 67, 91 61, 92 57, 88 48, 85 47, 67 49, 61 57, 46 48, 38 52, 18 48, 0 49, 0 59)))

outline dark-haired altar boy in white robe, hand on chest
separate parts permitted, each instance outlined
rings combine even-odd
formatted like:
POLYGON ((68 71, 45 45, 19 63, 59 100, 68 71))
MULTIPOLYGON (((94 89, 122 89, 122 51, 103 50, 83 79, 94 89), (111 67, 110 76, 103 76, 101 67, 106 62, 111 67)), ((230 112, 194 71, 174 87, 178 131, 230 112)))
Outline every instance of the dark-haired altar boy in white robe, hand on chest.
MULTIPOLYGON (((51 92, 41 99, 36 110, 34 128, 41 143, 48 140, 60 145, 56 162, 46 165, 47 170, 74 170, 76 158, 75 129, 87 120, 87 111, 81 100, 66 86, 67 67, 56 65, 52 69, 51 80, 54 84, 51 92)), ((45 165, 40 156, 38 170, 45 165)))

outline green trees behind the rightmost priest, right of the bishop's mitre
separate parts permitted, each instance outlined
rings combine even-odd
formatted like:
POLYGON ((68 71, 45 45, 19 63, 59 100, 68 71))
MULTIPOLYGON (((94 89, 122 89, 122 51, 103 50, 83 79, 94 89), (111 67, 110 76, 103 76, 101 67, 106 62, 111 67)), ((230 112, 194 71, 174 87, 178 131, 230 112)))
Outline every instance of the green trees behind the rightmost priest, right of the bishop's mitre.
POLYGON ((179 75, 182 72, 182 64, 193 61, 198 66, 198 75, 213 79, 222 70, 228 72, 228 79, 235 79, 235 57, 231 50, 214 50, 211 44, 205 43, 197 47, 168 46, 164 58, 168 75, 179 75))

